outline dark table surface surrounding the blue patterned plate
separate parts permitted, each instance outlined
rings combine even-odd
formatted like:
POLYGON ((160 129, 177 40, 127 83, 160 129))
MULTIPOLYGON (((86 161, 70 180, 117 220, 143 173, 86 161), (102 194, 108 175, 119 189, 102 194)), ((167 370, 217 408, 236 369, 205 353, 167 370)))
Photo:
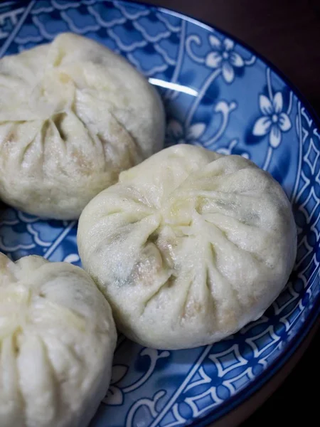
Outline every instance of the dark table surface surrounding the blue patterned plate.
MULTIPOLYGON (((217 26, 287 75, 320 117, 320 0, 144 0, 217 26)), ((319 425, 320 332, 282 386, 241 427, 319 425)))

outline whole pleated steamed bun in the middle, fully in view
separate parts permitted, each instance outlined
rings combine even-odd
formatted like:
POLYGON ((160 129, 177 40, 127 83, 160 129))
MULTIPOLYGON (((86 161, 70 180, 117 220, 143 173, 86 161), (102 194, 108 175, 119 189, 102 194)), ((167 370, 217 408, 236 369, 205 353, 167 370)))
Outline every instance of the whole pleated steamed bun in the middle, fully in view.
POLYGON ((119 176, 80 216, 82 264, 127 337, 209 344, 262 315, 297 250, 281 186, 240 156, 164 149, 119 176))

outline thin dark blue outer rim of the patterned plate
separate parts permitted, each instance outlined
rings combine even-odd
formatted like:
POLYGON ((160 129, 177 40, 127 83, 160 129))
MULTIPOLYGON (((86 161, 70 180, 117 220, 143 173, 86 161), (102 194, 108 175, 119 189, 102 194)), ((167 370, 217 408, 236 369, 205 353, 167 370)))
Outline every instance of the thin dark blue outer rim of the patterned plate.
MULTIPOLYGON (((234 36, 228 31, 222 30, 219 26, 210 24, 205 20, 193 18, 188 14, 183 14, 174 9, 170 9, 169 7, 159 6, 159 4, 147 4, 144 0, 143 1, 107 0, 107 2, 113 3, 113 4, 114 2, 119 4, 129 4, 129 5, 133 4, 134 6, 142 6, 146 9, 160 11, 161 13, 169 14, 171 16, 176 16, 179 19, 183 19, 197 26, 201 26, 201 28, 203 29, 206 29, 209 31, 216 30, 223 36, 228 37, 231 40, 235 41, 235 43, 247 49, 247 51, 249 51, 250 53, 255 55, 258 59, 260 59, 262 63, 265 63, 270 68, 270 70, 272 70, 273 73, 278 75, 279 78, 281 78, 284 81, 284 83, 290 88, 290 90, 292 90, 292 92, 297 97, 299 102, 301 102, 303 107, 306 108, 306 112, 310 115, 311 119, 314 122, 315 127, 320 131, 320 116, 317 114, 316 110, 314 110, 314 107, 311 105, 309 100, 307 100, 305 95, 299 90, 299 88, 297 88, 297 86, 294 85, 294 83, 292 83, 292 81, 289 78, 287 78, 287 75, 282 73, 282 70, 279 70, 277 65, 274 65, 274 63, 272 63, 269 59, 265 58, 265 56, 262 55, 260 52, 257 52, 255 48, 252 48, 245 41, 242 41, 238 36, 234 36)), ((319 277, 319 272, 320 272, 320 267, 318 267, 316 277, 319 277)), ((314 280, 316 280, 316 278, 314 278, 314 280)), ((222 404, 220 404, 216 408, 213 408, 213 410, 211 410, 207 414, 198 417, 188 425, 191 427, 208 426, 208 424, 220 420, 221 418, 223 418, 223 416, 225 416, 226 413, 235 410, 235 408, 238 408, 238 406, 248 401, 250 397, 253 394, 255 394, 256 391, 262 389, 262 387, 265 386, 265 384, 267 384, 267 382, 270 381, 270 379, 272 379, 272 377, 275 374, 277 374, 280 371, 280 369, 282 369, 282 367, 284 367, 284 365, 292 357, 292 354, 302 344, 302 342, 304 342, 304 339, 306 339, 306 336, 309 334, 311 328, 315 325, 316 320, 319 319, 319 317, 320 317, 320 293, 316 295, 311 311, 309 312, 309 315, 306 317, 306 319, 302 323, 302 326, 297 331, 297 334, 295 334, 294 337, 287 343, 287 345, 284 347, 282 352, 274 359, 274 361, 270 364, 270 366, 267 367, 264 371, 262 371, 261 374, 257 374, 255 376, 255 379, 252 380, 251 384, 248 384, 247 386, 245 386, 244 389, 237 391, 233 396, 231 396, 229 399, 224 401, 222 404)))

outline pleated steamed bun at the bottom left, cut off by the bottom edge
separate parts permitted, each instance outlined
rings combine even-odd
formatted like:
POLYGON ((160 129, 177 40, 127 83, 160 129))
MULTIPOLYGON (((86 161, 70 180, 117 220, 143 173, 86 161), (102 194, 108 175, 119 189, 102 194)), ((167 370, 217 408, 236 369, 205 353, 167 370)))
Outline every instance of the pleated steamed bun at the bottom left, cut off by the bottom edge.
POLYGON ((0 253, 0 426, 87 426, 116 336, 110 305, 81 268, 0 253))

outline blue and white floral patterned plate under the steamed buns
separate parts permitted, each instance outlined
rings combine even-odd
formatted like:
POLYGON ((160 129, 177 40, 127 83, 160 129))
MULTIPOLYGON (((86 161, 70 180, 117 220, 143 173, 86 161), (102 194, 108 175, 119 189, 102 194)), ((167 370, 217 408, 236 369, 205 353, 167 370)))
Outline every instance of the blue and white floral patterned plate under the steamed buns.
MULTIPOLYGON (((250 49, 165 9, 122 1, 4 1, 0 55, 62 31, 94 38, 159 88, 166 144, 241 154, 277 179, 294 207, 297 264, 257 322, 217 344, 157 351, 119 337, 110 390, 92 427, 204 426, 238 406, 297 349, 319 314, 320 135, 306 102, 250 49)), ((1 102, 1 101, 0 101, 1 102)), ((40 221, 6 208, 0 250, 80 265, 75 221, 40 221)))

